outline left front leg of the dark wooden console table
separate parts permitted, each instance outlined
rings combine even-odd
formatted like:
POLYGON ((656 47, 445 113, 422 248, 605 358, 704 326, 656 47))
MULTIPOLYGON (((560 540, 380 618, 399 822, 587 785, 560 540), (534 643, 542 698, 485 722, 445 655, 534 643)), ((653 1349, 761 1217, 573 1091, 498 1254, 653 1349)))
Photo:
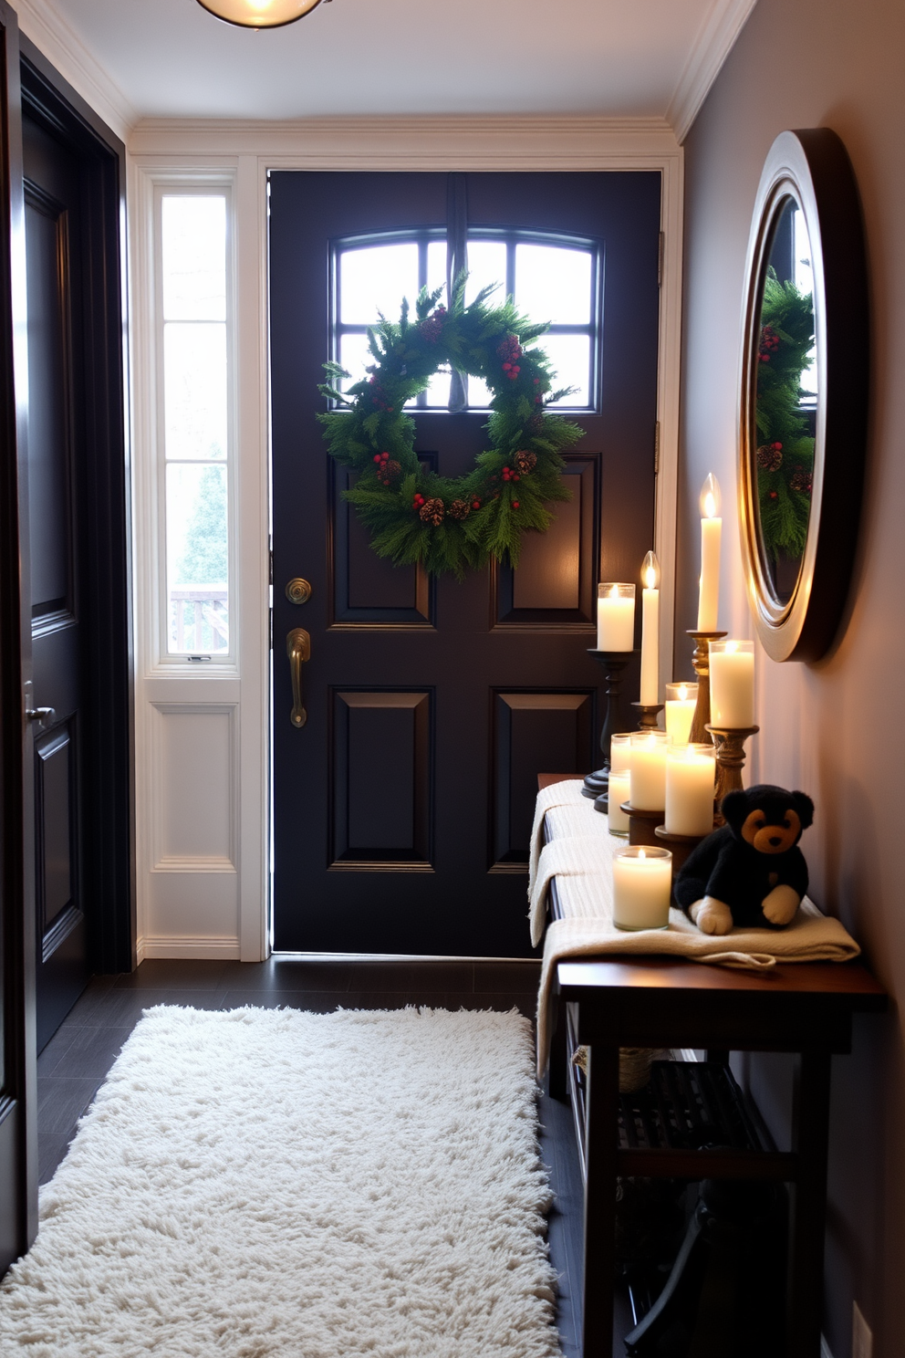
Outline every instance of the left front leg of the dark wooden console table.
POLYGON ((616 1267, 619 1047, 588 1051, 582 1358, 612 1358, 616 1267))

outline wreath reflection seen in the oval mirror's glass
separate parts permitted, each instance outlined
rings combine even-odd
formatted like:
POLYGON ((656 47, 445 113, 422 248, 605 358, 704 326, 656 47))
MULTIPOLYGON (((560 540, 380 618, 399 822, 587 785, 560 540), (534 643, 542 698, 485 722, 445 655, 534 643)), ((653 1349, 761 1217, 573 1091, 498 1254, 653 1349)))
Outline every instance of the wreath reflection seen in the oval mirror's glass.
POLYGON ((814 439, 801 409, 801 380, 813 344, 810 292, 780 282, 771 268, 757 354, 757 493, 763 540, 773 561, 801 557, 807 536, 814 439))

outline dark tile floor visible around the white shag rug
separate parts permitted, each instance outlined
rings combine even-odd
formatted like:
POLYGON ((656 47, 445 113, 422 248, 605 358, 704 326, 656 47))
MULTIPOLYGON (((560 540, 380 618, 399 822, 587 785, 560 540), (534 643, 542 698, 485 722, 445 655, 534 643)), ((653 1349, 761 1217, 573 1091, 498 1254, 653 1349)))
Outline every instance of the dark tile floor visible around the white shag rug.
MULTIPOLYGON (((79 1118, 91 1105, 123 1042, 151 1005, 236 1009, 281 1005, 330 1013, 396 1009, 512 1009, 535 1017, 536 961, 384 961, 271 957, 242 961, 142 961, 137 971, 95 976, 38 1058, 41 1181, 64 1158, 79 1118)), ((560 1275, 559 1329, 564 1358, 577 1358, 581 1332, 575 1279, 581 1278, 582 1192, 571 1109, 544 1096, 541 1153, 555 1205, 550 1249, 560 1275)))

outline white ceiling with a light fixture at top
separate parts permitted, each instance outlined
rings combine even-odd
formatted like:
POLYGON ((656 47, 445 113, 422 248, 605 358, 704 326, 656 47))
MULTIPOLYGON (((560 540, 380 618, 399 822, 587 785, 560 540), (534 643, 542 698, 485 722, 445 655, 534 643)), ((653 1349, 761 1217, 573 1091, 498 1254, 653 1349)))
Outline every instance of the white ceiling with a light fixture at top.
POLYGON ((113 81, 129 121, 533 113, 676 124, 753 0, 331 0, 270 33, 220 23, 195 0, 12 4, 26 33, 37 16, 95 83, 113 81))

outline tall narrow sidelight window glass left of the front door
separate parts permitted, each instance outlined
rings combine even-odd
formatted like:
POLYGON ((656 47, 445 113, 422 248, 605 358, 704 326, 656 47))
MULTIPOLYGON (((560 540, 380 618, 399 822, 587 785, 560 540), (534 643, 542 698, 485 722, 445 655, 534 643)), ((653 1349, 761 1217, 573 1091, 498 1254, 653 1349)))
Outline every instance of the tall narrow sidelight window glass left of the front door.
POLYGON ((159 197, 167 652, 229 652, 227 196, 159 197))

